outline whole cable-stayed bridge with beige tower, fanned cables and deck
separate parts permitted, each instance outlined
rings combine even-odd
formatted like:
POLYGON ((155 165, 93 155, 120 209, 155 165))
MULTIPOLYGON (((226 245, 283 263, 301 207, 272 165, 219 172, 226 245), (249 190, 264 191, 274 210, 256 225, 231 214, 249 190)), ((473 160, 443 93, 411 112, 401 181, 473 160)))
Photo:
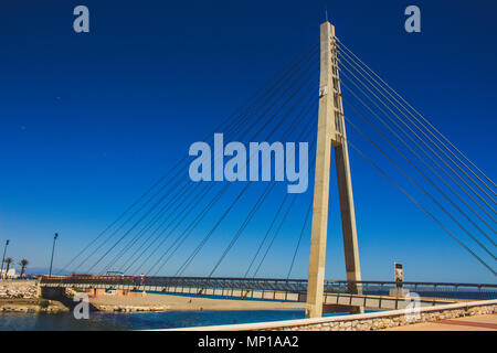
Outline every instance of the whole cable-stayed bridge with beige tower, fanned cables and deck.
MULTIPOLYGON (((294 173, 297 164, 302 168, 304 157, 296 146, 295 153, 288 153, 288 143, 279 142, 271 145, 269 153, 256 151, 257 172, 266 162, 274 165, 264 182, 247 181, 255 157, 252 152, 243 158, 240 150, 226 154, 214 147, 214 168, 208 172, 220 182, 205 181, 210 176, 193 182, 188 175, 191 158, 186 156, 64 266, 65 271, 93 275, 44 277, 42 286, 306 301, 308 317, 320 317, 324 304, 381 309, 385 288, 395 284, 361 278, 349 151, 432 220, 441 236, 452 238, 479 263, 482 270, 496 275, 496 184, 342 43, 329 22, 321 24, 317 42, 268 79, 203 141, 215 146, 216 132, 222 132, 225 141, 247 146, 252 141, 309 141, 309 159, 304 164, 307 191, 288 193, 290 185, 281 183, 278 174, 283 172, 276 160, 283 148, 287 167, 293 165, 294 173), (225 163, 226 156, 232 159, 225 163), (332 160, 347 272, 342 282, 325 281, 332 160), (221 182, 230 162, 235 176, 221 182), (286 278, 261 278, 262 268, 277 250, 275 244, 285 224, 292 224, 295 235, 292 246, 285 237, 288 264, 281 266, 286 267, 286 278), (250 242, 253 253, 229 261, 240 263, 240 277, 216 277, 226 258, 237 254, 236 246, 251 226, 257 229, 250 242), (309 233, 308 278, 296 280, 292 278, 296 258, 309 233), (212 239, 219 234, 225 244, 212 248, 212 239), (186 275, 194 261, 205 269, 204 277, 186 275)), ((203 168, 202 174, 207 173, 203 168)), ((285 171, 288 176, 288 168, 285 171)), ((444 286, 456 292, 469 288, 463 291, 467 298, 459 299, 469 300, 477 293, 495 298, 493 285, 409 286, 431 298, 423 299, 426 304, 442 300, 436 288, 444 286), (426 289, 430 286, 433 290, 426 289)), ((399 299, 383 300, 390 300, 383 306, 399 307, 399 299)))

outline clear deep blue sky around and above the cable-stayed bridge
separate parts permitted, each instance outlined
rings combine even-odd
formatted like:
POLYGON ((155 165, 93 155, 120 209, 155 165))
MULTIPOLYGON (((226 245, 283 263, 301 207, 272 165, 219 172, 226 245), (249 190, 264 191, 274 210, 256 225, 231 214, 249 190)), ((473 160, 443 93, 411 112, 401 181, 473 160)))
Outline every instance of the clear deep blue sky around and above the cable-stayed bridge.
MULTIPOLYGON (((8 255, 47 267, 59 232, 55 267, 67 263, 192 142, 310 47, 325 4, 340 40, 495 179, 494 1, 9 0, 0 4, 0 240, 11 239, 8 255), (72 29, 77 4, 89 8, 87 34, 72 29), (421 33, 403 29, 409 4, 421 8, 421 33)), ((495 282, 353 152, 351 164, 364 279, 391 279, 399 260, 406 280, 495 282)), ((342 279, 336 188, 331 200, 327 278, 342 279)), ((261 275, 286 275, 299 212, 261 275)), ((218 275, 243 275, 261 229, 247 231, 218 275)), ((228 242, 228 233, 214 237, 188 275, 207 275, 204 264, 228 242)), ((303 242, 293 277, 307 276, 309 229, 303 242)))

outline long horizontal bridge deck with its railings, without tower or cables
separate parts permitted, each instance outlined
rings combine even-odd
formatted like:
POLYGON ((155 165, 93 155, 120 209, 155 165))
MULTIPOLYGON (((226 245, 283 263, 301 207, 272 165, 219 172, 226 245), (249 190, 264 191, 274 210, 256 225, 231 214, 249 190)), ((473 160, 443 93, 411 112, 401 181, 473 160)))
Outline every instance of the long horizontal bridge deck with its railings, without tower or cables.
MULTIPOLYGON (((173 295, 211 296, 220 299, 250 299, 277 301, 306 301, 306 279, 274 278, 205 278, 205 277, 140 277, 116 275, 71 275, 42 277, 41 287, 77 289, 123 289, 173 295)), ((352 308, 370 310, 404 309, 409 298, 390 296, 395 288, 392 281, 326 281, 325 310, 350 311, 352 308), (351 293, 350 288, 360 288, 362 293, 351 293)), ((404 282, 421 296, 420 306, 446 304, 461 300, 487 300, 497 298, 497 285, 404 282)))

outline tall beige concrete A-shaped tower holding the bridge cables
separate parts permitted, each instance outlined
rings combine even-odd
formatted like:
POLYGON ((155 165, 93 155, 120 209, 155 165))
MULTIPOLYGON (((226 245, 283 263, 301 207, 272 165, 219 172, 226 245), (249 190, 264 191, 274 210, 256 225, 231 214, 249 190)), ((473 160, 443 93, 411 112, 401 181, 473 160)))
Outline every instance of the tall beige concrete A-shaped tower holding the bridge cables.
MULTIPOLYGON (((335 167, 340 199, 347 279, 361 280, 335 26, 328 21, 320 25, 319 115, 317 131, 313 228, 307 285, 307 318, 322 315, 331 147, 335 152, 335 167)), ((350 285, 349 290, 351 293, 361 293, 361 288, 356 285, 350 285)), ((362 309, 358 310, 361 311, 362 309)))

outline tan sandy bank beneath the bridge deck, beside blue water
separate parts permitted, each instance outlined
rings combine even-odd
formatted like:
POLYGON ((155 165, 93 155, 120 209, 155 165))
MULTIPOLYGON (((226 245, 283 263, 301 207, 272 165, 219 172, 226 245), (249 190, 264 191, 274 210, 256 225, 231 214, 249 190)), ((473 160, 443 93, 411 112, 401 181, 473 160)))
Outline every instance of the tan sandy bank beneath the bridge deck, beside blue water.
POLYGON ((305 309, 303 302, 211 299, 171 295, 146 293, 135 297, 105 296, 91 298, 92 307, 99 311, 228 311, 305 309))

